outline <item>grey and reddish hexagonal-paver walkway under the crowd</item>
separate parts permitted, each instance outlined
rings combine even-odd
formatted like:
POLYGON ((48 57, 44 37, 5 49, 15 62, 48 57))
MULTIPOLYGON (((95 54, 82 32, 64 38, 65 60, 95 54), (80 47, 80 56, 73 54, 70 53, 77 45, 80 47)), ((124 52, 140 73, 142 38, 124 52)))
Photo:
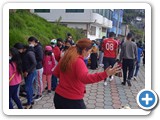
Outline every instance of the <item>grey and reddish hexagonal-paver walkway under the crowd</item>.
MULTIPOLYGON (((102 68, 89 70, 90 73, 101 72, 102 68)), ((122 78, 115 77, 108 85, 104 86, 103 81, 86 85, 84 97, 87 109, 119 109, 128 105, 131 109, 139 109, 136 102, 137 93, 145 88, 145 68, 141 65, 137 81, 132 80, 132 86, 121 85, 122 78)), ((48 94, 44 92, 43 98, 33 105, 33 109, 54 109, 54 92, 48 94)), ((22 103, 26 99, 21 97, 22 103)))

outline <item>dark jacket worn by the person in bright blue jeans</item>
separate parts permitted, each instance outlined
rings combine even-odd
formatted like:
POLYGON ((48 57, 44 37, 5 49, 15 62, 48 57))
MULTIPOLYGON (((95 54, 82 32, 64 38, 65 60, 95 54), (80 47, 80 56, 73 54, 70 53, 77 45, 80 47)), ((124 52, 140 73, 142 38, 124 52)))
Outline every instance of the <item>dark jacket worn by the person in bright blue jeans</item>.
POLYGON ((37 62, 33 47, 27 48, 26 52, 23 54, 22 63, 23 72, 28 72, 28 74, 30 74, 31 72, 36 70, 37 62))

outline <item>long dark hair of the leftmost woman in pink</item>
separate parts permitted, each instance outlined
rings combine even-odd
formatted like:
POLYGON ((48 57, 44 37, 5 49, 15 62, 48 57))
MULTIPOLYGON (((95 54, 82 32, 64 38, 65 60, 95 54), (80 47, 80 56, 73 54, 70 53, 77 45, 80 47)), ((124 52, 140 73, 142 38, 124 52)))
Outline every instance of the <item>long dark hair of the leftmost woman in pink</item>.
MULTIPOLYGON (((11 48, 10 53, 12 55, 12 59, 10 60, 10 64, 13 66, 12 62, 16 63, 16 69, 19 74, 22 74, 22 60, 20 57, 20 53, 16 48, 11 48)), ((13 66, 14 67, 14 66, 13 66)))

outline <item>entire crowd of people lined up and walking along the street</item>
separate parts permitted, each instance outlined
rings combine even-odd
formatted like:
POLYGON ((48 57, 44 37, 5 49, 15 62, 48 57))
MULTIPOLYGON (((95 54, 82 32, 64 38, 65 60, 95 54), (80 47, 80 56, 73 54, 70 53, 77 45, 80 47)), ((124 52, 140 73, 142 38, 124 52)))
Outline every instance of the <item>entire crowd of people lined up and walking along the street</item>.
POLYGON ((16 43, 9 53, 9 108, 13 109, 14 101, 19 109, 31 109, 44 91, 50 94, 53 90, 56 109, 85 109, 85 85, 104 80, 106 86, 121 71, 116 62, 122 63, 122 85, 127 82, 131 86, 131 80, 137 80, 144 46, 133 42, 131 33, 126 38, 120 41, 110 32, 100 41, 83 38, 76 43, 68 34, 65 41, 52 39, 44 48, 32 36, 28 45, 16 43), (96 70, 99 66, 103 72, 88 72, 88 68, 96 70), (22 93, 27 99, 23 104, 19 99, 22 93))

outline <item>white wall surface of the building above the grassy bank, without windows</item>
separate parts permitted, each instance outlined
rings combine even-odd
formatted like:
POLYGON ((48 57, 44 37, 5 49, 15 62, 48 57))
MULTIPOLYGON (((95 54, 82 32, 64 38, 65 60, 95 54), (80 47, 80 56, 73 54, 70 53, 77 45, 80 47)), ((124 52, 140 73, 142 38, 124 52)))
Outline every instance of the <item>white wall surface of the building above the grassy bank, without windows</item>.
MULTIPOLYGON (((34 10, 31 10, 31 12, 34 13, 34 10)), ((102 29, 100 30, 100 28, 102 28, 102 26, 112 28, 111 20, 108 20, 98 13, 92 13, 92 9, 84 9, 84 13, 66 13, 65 9, 50 9, 50 13, 35 14, 38 14, 49 22, 55 22, 61 16, 61 22, 72 28, 82 28, 87 30, 87 24, 92 24, 96 27, 96 35, 89 35, 89 32, 87 32, 87 37, 92 40, 101 38, 102 29)))

